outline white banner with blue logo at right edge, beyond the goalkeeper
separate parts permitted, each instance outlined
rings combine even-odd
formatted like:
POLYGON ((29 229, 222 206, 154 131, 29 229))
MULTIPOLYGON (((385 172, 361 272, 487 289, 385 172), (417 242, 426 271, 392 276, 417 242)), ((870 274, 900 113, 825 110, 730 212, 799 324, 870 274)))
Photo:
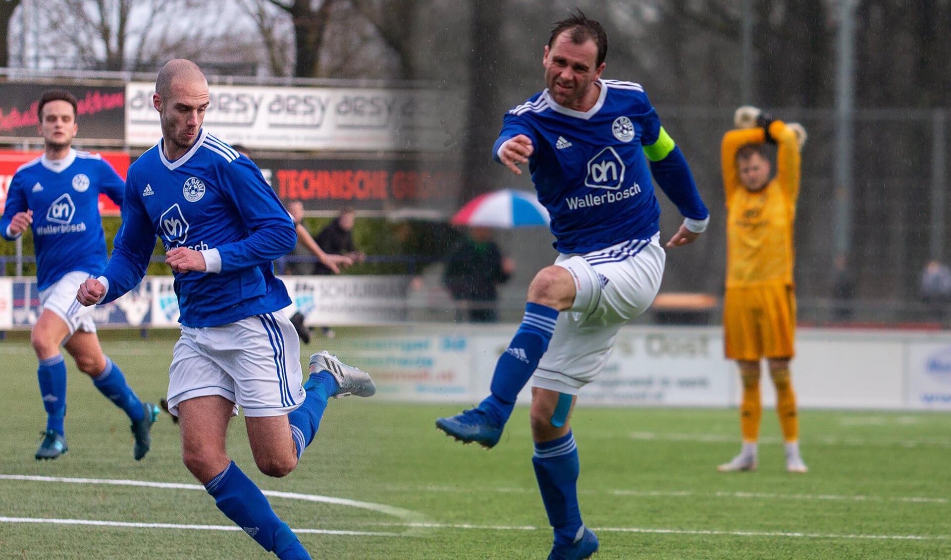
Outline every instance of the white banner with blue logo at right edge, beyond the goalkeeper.
POLYGON ((951 341, 909 344, 905 405, 951 410, 951 341))

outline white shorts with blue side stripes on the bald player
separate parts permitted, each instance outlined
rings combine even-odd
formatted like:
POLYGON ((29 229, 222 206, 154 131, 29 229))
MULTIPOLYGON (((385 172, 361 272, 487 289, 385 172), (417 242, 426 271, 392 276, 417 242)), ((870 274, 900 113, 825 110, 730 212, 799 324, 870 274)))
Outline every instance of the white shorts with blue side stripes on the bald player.
POLYGON ((168 368, 168 412, 177 416, 189 398, 220 395, 245 416, 286 415, 303 402, 301 380, 301 343, 280 312, 218 327, 183 326, 168 368))

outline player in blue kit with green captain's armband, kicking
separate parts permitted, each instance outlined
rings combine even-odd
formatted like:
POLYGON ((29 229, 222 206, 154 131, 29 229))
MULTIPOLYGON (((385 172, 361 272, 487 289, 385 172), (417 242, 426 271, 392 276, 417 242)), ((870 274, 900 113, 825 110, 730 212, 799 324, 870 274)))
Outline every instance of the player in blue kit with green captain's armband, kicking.
POLYGON ((709 216, 644 89, 601 79, 607 49, 604 29, 580 11, 556 23, 542 60, 547 88, 505 115, 495 159, 516 175, 519 164, 529 165, 560 255, 529 285, 525 316, 495 366, 492 395, 437 419, 446 434, 491 448, 534 374, 532 462, 554 531, 550 559, 598 550, 581 521, 569 417, 578 390, 610 356, 618 329, 660 288, 665 253, 651 174, 685 217, 667 247, 694 241, 709 216))

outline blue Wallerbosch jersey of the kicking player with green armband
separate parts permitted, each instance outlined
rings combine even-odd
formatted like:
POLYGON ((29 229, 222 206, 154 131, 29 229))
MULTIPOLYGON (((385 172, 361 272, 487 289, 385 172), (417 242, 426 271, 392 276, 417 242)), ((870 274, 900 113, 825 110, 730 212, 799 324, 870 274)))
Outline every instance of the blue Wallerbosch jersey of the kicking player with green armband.
POLYGON ((559 106, 541 91, 505 114, 493 146, 519 134, 532 139, 529 171, 538 200, 552 216, 554 247, 561 253, 590 253, 659 229, 660 205, 654 178, 681 214, 708 218, 680 149, 662 131, 644 89, 631 82, 600 80, 600 96, 588 111, 559 106), (668 143, 651 163, 644 146, 668 143))

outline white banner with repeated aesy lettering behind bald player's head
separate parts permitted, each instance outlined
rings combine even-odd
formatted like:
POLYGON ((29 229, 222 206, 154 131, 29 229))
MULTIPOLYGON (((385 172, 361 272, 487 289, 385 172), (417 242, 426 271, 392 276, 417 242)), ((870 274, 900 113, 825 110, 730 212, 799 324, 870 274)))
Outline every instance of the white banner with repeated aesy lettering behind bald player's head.
MULTIPOLYGON (((126 84, 126 144, 162 136, 154 84, 126 84)), ((299 150, 444 150, 453 97, 432 89, 208 86, 204 127, 229 144, 299 150)))

